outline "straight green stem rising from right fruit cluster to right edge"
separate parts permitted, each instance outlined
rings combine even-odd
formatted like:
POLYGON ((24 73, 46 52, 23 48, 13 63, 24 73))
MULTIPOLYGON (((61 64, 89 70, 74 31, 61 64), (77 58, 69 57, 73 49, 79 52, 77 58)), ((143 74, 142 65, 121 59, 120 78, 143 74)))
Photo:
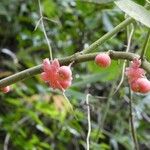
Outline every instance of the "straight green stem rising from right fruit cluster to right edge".
POLYGON ((148 29, 148 33, 146 35, 145 42, 144 42, 144 45, 143 45, 143 48, 142 48, 141 57, 140 57, 142 60, 144 59, 144 56, 146 54, 146 50, 147 50, 149 40, 150 40, 150 29, 148 29))

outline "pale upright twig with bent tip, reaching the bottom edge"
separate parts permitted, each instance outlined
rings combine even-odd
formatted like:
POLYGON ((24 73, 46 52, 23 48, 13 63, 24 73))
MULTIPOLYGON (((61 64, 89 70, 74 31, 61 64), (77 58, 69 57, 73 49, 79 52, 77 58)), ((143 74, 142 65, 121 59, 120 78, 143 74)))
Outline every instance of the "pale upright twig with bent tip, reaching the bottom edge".
POLYGON ((91 134, 91 117, 90 117, 89 96, 90 96, 90 94, 87 94, 87 96, 86 96, 87 120, 88 120, 88 133, 87 133, 87 137, 86 137, 87 150, 90 149, 90 134, 91 134))

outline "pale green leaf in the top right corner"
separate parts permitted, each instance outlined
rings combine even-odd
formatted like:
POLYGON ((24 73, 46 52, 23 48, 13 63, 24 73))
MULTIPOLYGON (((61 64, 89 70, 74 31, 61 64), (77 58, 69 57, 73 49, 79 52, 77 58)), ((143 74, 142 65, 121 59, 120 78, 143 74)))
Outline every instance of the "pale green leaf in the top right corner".
POLYGON ((150 28, 150 12, 131 0, 118 0, 115 4, 130 17, 150 28))

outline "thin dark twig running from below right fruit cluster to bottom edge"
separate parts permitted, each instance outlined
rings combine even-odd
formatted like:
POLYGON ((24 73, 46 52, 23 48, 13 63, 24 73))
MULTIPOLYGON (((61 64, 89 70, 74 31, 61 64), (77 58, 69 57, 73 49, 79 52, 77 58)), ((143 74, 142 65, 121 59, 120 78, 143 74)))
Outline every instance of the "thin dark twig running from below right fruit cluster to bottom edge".
POLYGON ((137 135, 136 135, 136 130, 134 127, 134 118, 133 118, 133 111, 132 111, 132 92, 131 89, 129 88, 129 107, 130 107, 130 126, 131 126, 131 135, 133 138, 134 142, 134 148, 135 150, 139 150, 138 146, 138 141, 137 141, 137 135))

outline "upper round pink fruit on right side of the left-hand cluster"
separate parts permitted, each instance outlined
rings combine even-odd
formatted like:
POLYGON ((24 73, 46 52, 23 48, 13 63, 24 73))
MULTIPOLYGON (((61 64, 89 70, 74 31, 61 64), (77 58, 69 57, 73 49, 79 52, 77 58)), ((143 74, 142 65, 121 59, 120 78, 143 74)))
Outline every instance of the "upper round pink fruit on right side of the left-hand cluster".
POLYGON ((61 66, 58 70, 60 80, 71 80, 72 72, 69 66, 61 66))

